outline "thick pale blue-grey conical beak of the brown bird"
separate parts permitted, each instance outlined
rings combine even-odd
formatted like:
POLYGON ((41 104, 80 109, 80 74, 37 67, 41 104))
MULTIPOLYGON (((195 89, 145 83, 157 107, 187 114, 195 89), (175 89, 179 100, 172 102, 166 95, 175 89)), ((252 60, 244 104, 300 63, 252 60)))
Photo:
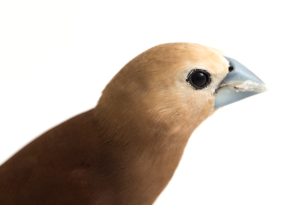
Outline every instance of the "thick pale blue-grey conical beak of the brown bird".
POLYGON ((225 58, 230 62, 229 73, 216 89, 215 109, 267 90, 263 81, 239 61, 225 58))

